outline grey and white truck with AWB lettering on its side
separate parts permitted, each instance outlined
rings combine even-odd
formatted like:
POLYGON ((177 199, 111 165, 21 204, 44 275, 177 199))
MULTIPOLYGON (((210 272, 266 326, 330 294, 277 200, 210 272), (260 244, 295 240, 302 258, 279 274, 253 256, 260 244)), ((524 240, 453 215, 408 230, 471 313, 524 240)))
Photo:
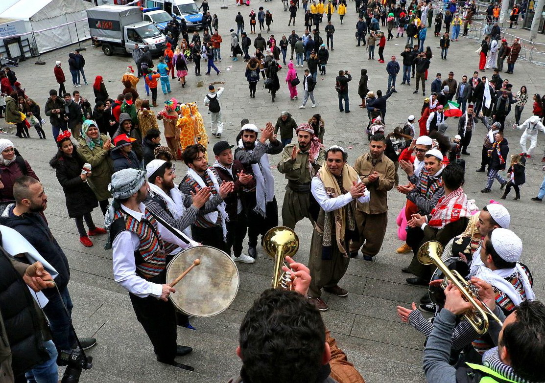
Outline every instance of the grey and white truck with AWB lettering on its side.
POLYGON ((87 21, 92 39, 100 42, 107 56, 132 53, 135 45, 148 46, 154 55, 165 50, 165 35, 154 23, 144 21, 140 7, 99 5, 87 9, 87 21))

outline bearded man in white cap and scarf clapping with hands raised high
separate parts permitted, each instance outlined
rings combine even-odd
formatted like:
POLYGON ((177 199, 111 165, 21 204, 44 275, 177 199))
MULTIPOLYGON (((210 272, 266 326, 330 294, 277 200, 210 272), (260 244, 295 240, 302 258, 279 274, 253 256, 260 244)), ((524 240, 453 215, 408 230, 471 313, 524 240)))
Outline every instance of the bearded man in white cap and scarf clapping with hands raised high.
POLYGON ((263 236, 270 228, 278 226, 278 205, 274 196, 274 176, 270 169, 269 155, 282 152, 282 144, 276 139, 274 125, 267 122, 259 134, 257 126, 246 123, 237 136, 235 159, 245 168, 246 174, 253 174, 256 187, 244 190, 248 222, 248 255, 257 257, 257 237, 263 236), (269 141, 269 142, 267 142, 269 141))

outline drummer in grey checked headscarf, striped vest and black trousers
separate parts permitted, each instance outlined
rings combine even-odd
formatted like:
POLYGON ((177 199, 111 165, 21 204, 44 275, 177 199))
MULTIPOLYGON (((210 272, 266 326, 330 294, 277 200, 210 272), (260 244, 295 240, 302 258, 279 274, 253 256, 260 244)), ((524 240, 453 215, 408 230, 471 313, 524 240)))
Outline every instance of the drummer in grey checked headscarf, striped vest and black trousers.
POLYGON ((174 360, 191 347, 176 345, 176 315, 168 301, 176 290, 166 284, 166 256, 188 245, 149 213, 146 172, 124 169, 108 185, 113 201, 105 217, 108 243, 113 250, 113 276, 129 291, 138 322, 152 341, 157 360, 192 371, 174 360))

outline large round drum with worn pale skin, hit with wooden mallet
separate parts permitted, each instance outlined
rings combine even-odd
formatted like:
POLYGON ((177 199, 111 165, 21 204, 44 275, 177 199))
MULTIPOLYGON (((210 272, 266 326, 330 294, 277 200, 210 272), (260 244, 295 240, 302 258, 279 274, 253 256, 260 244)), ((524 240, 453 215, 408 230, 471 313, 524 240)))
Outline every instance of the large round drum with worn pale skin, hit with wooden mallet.
POLYGON ((233 302, 239 287, 239 273, 237 265, 225 252, 211 246, 195 246, 172 258, 167 266, 167 283, 174 281, 197 258, 201 264, 178 282, 170 299, 184 314, 211 317, 233 302))

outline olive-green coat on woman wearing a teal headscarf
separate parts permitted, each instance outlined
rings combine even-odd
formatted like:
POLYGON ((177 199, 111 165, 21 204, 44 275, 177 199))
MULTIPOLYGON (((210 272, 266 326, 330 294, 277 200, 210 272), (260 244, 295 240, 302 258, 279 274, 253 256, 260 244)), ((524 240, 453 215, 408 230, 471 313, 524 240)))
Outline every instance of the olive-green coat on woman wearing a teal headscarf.
MULTIPOLYGON (((101 134, 100 138, 102 141, 108 140, 108 137, 104 134, 101 134)), ((99 146, 90 149, 84 137, 78 139, 77 153, 84 162, 88 162, 92 166, 93 175, 87 178, 87 183, 91 190, 93 190, 93 193, 95 193, 96 199, 104 201, 111 198, 112 195, 108 191, 108 184, 112 181, 113 174, 113 163, 110 153, 99 146)))

